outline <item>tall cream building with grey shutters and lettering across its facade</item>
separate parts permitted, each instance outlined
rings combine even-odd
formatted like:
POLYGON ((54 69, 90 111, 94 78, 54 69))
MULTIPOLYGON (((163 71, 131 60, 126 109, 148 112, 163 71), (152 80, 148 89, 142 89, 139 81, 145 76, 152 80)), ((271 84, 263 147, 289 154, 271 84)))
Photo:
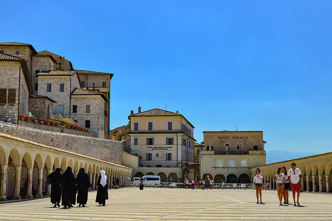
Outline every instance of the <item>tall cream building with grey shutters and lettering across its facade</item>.
POLYGON ((183 164, 194 162, 195 127, 178 111, 158 108, 141 112, 139 107, 138 113, 131 111, 128 119, 130 153, 142 157, 141 168, 135 169, 135 172, 145 173, 148 170, 150 175, 157 175, 157 170, 173 168, 172 173, 175 171, 176 174, 173 180, 182 180, 183 164))

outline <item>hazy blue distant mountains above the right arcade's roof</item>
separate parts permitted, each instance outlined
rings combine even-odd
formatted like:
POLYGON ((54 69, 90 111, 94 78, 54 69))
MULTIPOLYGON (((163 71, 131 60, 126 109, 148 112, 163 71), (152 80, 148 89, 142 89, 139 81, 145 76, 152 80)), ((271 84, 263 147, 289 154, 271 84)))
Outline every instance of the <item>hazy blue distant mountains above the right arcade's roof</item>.
POLYGON ((272 164, 280 161, 292 160, 301 157, 308 157, 317 154, 318 153, 311 153, 311 152, 290 152, 284 150, 270 150, 266 151, 266 164, 272 164))

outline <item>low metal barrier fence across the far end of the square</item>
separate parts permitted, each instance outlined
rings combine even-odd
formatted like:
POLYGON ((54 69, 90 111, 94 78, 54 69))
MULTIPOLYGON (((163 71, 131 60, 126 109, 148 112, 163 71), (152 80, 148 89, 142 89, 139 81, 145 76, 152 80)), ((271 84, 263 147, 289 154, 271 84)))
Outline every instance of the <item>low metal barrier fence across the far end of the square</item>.
MULTIPOLYGON (((185 183, 159 183, 159 184, 143 184, 143 187, 152 188, 187 188, 185 183)), ((139 182, 127 182, 126 188, 139 187, 139 182)), ((188 189, 195 188, 192 184, 189 184, 188 189)), ((200 186, 197 185, 197 189, 200 186)), ((210 188, 210 184, 205 184, 204 189, 210 188)), ((212 189, 254 189, 254 184, 213 184, 212 189)))

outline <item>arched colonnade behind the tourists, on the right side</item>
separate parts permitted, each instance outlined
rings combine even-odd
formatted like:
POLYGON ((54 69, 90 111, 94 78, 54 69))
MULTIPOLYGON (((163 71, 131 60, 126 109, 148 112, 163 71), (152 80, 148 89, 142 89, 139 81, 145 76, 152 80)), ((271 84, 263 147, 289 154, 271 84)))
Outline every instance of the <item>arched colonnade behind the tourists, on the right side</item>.
POLYGON ((294 160, 282 161, 250 168, 250 182, 257 168, 263 174, 263 182, 268 181, 271 188, 276 189, 275 175, 279 167, 290 169, 290 164, 295 163, 301 170, 301 189, 312 192, 332 192, 332 152, 303 157, 294 160))

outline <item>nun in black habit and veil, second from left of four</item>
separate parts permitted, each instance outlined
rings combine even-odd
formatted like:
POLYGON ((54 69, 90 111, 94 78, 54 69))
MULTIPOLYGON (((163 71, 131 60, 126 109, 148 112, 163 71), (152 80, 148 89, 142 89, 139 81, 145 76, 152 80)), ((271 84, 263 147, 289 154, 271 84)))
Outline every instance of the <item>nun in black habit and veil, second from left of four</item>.
POLYGON ((67 167, 66 171, 62 174, 60 178, 59 185, 62 188, 62 202, 63 208, 70 208, 72 204, 75 204, 76 201, 76 191, 75 190, 76 179, 73 175, 71 167, 67 167))

